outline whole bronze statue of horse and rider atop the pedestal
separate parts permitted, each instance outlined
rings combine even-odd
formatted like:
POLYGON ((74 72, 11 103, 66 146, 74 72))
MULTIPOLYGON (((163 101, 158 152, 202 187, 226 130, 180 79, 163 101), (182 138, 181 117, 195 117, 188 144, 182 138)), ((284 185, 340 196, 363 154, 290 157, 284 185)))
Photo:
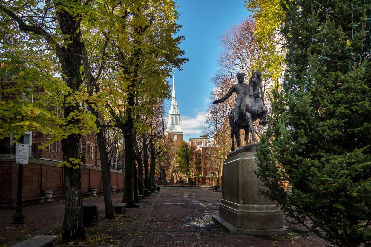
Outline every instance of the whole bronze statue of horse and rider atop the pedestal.
POLYGON ((223 98, 215 100, 213 104, 221 103, 228 99, 233 92, 237 94, 236 106, 233 107, 229 113, 229 126, 231 127, 232 147, 234 151, 234 137, 236 137, 237 147, 241 145, 240 130, 245 130, 245 142, 249 144, 249 133, 253 143, 257 143, 253 122, 260 119, 259 124, 262 126, 267 125, 266 114, 268 108, 263 105, 260 99, 260 83, 262 82, 262 74, 260 70, 251 71, 251 78, 249 84, 244 83, 246 74, 236 74, 238 83, 234 84, 223 98))

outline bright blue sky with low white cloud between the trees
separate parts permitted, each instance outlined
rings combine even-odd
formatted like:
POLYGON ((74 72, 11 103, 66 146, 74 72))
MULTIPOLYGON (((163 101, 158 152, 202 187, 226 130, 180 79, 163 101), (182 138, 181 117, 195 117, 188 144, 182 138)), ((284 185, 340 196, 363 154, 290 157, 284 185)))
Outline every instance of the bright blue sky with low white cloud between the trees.
MULTIPOLYGON (((220 53, 218 38, 232 24, 239 24, 251 13, 243 0, 177 0, 181 14, 178 24, 182 28, 178 35, 185 36, 180 49, 185 50, 188 63, 181 71, 175 69, 175 90, 181 119, 183 139, 202 135, 204 111, 213 89, 211 75, 217 71, 220 53)), ((168 79, 170 84, 173 79, 168 79)), ((168 109, 170 100, 168 101, 168 109)))

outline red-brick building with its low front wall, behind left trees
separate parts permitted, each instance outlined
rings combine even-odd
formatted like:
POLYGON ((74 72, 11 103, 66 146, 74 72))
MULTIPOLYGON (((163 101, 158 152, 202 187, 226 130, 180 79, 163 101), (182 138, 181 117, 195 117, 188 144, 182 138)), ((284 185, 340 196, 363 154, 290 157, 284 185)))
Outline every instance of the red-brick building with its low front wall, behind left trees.
MULTIPOLYGON (((3 84, 1 84, 3 86, 3 84)), ((33 100, 33 94, 39 93, 28 90, 23 96, 33 100)), ((14 100, 15 96, 1 96, 2 101, 14 100)), ((51 109, 52 102, 49 104, 51 109)), ((18 140, 19 143, 29 144, 29 164, 23 165, 23 204, 39 204, 45 202, 43 191, 53 190, 54 200, 62 200, 65 193, 63 168, 58 164, 63 161, 63 150, 60 141, 50 144, 45 150, 38 146, 46 143, 50 134, 39 131, 26 131, 18 140)), ((13 208, 17 198, 18 164, 15 163, 16 145, 12 143, 13 136, 0 140, 0 208, 13 208)), ((101 161, 95 134, 82 136, 79 145, 81 160, 82 193, 91 194, 91 188, 103 191, 101 161)), ((124 176, 121 171, 111 170, 111 186, 116 190, 124 187, 124 176)))

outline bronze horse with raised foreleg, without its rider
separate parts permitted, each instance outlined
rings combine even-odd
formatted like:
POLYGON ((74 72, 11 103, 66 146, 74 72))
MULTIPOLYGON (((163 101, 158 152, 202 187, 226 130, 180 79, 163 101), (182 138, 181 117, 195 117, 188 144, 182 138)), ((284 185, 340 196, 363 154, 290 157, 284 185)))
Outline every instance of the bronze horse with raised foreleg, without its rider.
POLYGON ((262 74, 260 70, 254 72, 251 71, 251 78, 249 81, 249 90, 247 95, 245 96, 244 100, 242 101, 240 109, 236 109, 237 107, 233 107, 229 113, 229 126, 231 127, 231 140, 232 140, 232 147, 231 151, 234 151, 234 136, 236 137, 236 144, 237 147, 241 145, 241 138, 240 138, 240 130, 245 130, 245 142, 249 144, 249 133, 251 131, 251 136, 253 138, 253 143, 257 143, 255 137, 255 131, 253 122, 257 119, 260 119, 259 124, 262 126, 266 126, 267 119, 266 114, 268 108, 263 105, 263 101, 260 99, 260 83, 262 82, 262 74), (234 111, 239 110, 239 123, 237 126, 234 125, 234 111))

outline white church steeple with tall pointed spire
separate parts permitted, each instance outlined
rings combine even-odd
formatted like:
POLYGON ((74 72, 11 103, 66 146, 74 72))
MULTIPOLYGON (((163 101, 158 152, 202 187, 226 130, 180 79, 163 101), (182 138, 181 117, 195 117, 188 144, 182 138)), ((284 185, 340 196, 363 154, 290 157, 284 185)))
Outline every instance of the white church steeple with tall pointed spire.
MULTIPOLYGON (((171 104, 170 104, 170 111, 168 116, 168 124, 166 133, 173 134, 174 141, 178 141, 178 137, 181 137, 183 140, 183 124, 180 119, 180 113, 178 109, 178 102, 175 96, 175 68, 173 68, 173 89, 171 93, 171 104)), ((168 135, 169 136, 169 135, 168 135)))

